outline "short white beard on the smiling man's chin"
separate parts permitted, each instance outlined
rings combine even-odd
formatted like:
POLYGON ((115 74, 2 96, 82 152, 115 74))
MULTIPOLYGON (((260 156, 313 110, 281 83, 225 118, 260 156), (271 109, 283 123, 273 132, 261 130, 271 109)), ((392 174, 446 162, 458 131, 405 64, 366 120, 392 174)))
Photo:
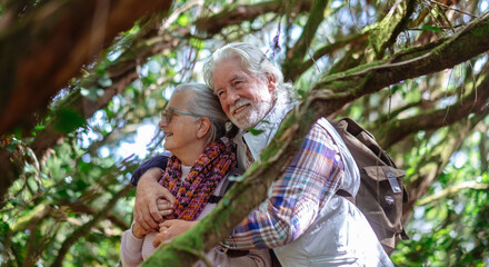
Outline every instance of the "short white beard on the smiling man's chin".
POLYGON ((240 129, 249 129, 255 127, 262 120, 268 111, 272 108, 271 101, 261 101, 258 103, 253 103, 251 100, 241 98, 238 100, 230 109, 230 120, 240 129), (233 115, 234 110, 241 106, 250 105, 247 110, 241 111, 239 115, 233 115))

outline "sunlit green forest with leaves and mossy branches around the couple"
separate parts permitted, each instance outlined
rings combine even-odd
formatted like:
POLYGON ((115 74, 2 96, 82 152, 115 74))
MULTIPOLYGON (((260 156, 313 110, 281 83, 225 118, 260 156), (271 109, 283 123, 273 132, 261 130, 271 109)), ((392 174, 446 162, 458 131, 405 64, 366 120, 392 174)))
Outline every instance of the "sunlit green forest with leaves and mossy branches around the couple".
POLYGON ((489 265, 488 12, 488 0, 0 1, 1 265, 116 266, 131 172, 162 152, 160 111, 231 41, 262 49, 303 101, 216 226, 157 257, 194 260, 265 198, 315 119, 348 116, 407 170, 411 239, 395 264, 489 265))

